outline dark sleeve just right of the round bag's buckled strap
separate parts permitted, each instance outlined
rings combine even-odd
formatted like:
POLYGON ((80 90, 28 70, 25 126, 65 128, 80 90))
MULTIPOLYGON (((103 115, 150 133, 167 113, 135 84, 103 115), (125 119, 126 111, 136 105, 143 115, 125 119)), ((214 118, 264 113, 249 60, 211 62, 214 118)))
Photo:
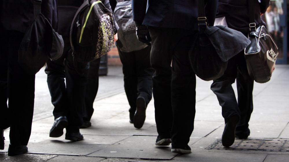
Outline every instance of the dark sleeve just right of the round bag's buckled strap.
POLYGON ((206 10, 206 15, 208 18, 209 26, 214 25, 217 8, 218 8, 218 0, 207 0, 205 10, 206 10))

